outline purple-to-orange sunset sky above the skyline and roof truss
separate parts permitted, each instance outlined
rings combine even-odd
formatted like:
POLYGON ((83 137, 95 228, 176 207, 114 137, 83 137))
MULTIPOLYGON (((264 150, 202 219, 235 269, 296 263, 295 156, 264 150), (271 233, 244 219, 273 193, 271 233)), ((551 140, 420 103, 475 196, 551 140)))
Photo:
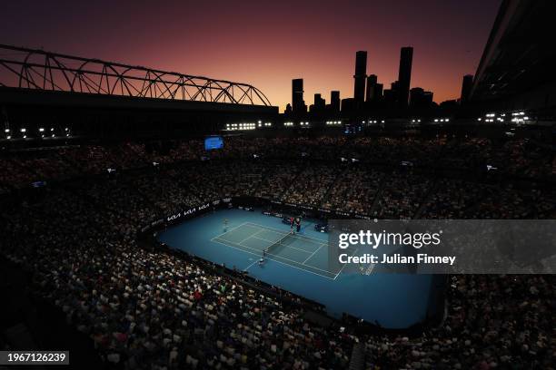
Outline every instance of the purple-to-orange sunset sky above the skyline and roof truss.
POLYGON ((293 78, 305 101, 352 97, 355 52, 385 88, 413 46, 412 87, 459 97, 501 0, 17 1, 0 13, 0 44, 251 83, 281 112, 293 78))

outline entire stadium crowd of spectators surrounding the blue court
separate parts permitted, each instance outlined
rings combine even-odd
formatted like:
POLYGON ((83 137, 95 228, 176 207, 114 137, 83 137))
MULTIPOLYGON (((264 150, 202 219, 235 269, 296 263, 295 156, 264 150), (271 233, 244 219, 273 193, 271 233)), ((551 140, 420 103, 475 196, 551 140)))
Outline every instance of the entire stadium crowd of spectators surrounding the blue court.
MULTIPOLYGON (((418 337, 354 336, 311 324, 301 305, 137 245, 137 231, 154 219, 228 196, 378 218, 556 214, 554 190, 533 181, 553 161, 545 149, 515 161, 516 174, 533 177, 520 187, 506 178, 482 183, 417 167, 335 161, 337 153, 358 151, 362 160, 371 152, 396 161, 422 155, 414 164, 433 165, 425 157, 466 156, 478 146, 490 158, 501 156, 488 141, 468 141, 469 148, 456 150, 441 139, 433 142, 442 148, 408 139, 397 151, 397 139, 358 140, 348 145, 345 138, 239 137, 205 159, 194 140, 175 142, 165 154, 139 143, 25 151, 21 160, 10 153, 0 161, 5 190, 0 253, 31 269, 36 294, 54 302, 71 325, 94 340, 104 361, 120 368, 347 368, 354 343, 366 347, 369 369, 554 368, 556 301, 550 276, 453 276, 441 326, 418 337), (242 149, 246 141, 249 152, 242 149), (336 145, 339 151, 333 151, 336 145), (253 157, 255 151, 261 157, 253 157), (531 160, 537 155, 544 161, 531 160), (106 168, 117 170, 108 174, 106 168), (56 183, 37 190, 39 196, 15 196, 35 180, 56 183)), ((505 147, 518 151, 513 144, 505 147)))

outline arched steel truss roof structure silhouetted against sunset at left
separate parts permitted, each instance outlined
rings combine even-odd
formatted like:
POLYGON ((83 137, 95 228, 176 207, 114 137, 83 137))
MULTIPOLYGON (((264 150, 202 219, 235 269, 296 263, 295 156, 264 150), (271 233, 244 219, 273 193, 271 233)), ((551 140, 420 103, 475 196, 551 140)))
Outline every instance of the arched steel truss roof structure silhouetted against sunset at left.
POLYGON ((271 106, 247 83, 0 44, 0 86, 191 102, 271 106))

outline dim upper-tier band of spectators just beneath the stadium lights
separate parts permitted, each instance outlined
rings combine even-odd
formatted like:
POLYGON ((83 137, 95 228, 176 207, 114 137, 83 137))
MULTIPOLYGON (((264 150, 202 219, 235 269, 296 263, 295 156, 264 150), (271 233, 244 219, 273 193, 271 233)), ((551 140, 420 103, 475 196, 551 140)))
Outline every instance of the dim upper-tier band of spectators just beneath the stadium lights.
POLYGON ((254 156, 301 161, 341 159, 382 163, 402 161, 415 166, 453 169, 486 169, 524 178, 554 179, 553 147, 527 138, 495 141, 487 138, 422 137, 245 137, 226 136, 220 151, 204 151, 203 140, 89 143, 40 150, 0 152, 0 187, 20 188, 35 180, 67 179, 129 170, 153 163, 209 159, 252 161, 254 156))

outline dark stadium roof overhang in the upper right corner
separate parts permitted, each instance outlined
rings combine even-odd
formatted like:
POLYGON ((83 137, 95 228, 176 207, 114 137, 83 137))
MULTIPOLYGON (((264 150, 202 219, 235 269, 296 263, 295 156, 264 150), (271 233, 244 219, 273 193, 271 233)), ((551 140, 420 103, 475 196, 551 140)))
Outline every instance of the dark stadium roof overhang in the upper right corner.
POLYGON ((556 80, 550 0, 504 0, 475 73, 471 100, 508 100, 556 80))

